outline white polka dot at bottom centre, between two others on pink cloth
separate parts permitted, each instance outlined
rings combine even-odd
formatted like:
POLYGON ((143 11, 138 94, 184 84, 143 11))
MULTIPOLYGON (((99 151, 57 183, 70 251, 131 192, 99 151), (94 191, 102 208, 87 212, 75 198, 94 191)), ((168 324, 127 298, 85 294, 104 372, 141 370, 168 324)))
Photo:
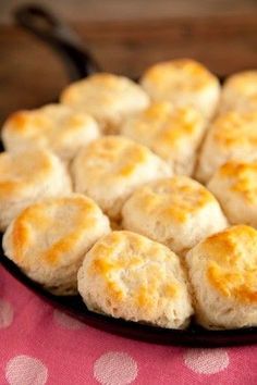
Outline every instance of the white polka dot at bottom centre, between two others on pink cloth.
POLYGON ((137 376, 137 364, 125 352, 109 351, 96 360, 94 375, 102 385, 131 384, 137 376))

